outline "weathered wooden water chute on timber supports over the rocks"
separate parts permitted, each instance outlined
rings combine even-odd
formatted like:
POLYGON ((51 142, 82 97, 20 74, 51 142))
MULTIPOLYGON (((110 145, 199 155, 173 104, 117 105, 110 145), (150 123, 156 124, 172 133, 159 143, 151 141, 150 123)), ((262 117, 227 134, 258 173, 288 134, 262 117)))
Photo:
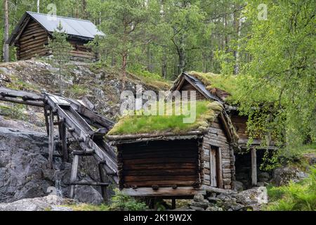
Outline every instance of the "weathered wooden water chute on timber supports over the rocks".
POLYGON ((114 122, 94 113, 86 106, 71 98, 58 94, 35 94, 28 91, 15 91, 0 87, 0 101, 21 103, 44 108, 48 134, 48 163, 53 169, 53 156, 58 154, 62 162, 69 160, 67 146, 77 142, 79 150, 73 150, 72 174, 70 178, 70 198, 74 197, 75 185, 100 186, 103 198, 106 198, 105 178, 110 177, 118 183, 116 154, 103 137, 114 125, 114 122), (55 140, 54 127, 58 126, 59 140, 55 140), (67 139, 67 131, 72 138, 67 139), (79 156, 93 156, 98 162, 99 182, 77 181, 79 156))

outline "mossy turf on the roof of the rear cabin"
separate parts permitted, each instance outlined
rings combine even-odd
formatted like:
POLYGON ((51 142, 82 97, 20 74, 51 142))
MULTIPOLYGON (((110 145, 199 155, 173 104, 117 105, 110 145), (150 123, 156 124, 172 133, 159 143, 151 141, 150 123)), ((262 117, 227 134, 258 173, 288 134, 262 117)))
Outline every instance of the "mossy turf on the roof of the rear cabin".
POLYGON ((212 94, 216 94, 224 101, 233 102, 237 96, 237 76, 216 75, 212 72, 203 73, 191 71, 189 75, 199 79, 212 94), (226 98, 227 96, 227 98, 226 98))

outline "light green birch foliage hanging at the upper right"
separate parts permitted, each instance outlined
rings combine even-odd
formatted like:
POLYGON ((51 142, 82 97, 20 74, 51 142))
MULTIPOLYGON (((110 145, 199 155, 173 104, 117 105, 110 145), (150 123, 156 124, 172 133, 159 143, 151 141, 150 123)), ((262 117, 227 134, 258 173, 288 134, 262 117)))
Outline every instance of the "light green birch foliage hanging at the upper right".
POLYGON ((249 115, 251 136, 289 146, 316 140, 315 1, 266 1, 268 20, 258 20, 257 6, 246 6, 251 33, 244 51, 239 104, 249 115))

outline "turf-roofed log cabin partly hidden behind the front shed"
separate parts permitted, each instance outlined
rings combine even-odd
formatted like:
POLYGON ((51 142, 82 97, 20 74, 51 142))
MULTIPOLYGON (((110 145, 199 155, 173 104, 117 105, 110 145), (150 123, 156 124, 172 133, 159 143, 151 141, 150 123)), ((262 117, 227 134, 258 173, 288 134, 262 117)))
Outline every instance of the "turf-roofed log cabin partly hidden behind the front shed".
POLYGON ((235 151, 235 174, 236 180, 241 181, 244 187, 256 186, 261 162, 266 153, 276 150, 273 141, 265 149, 261 148, 261 140, 253 139, 247 146, 249 134, 246 123, 248 117, 239 115, 238 105, 234 105, 234 94, 238 91, 236 76, 216 75, 211 72, 184 72, 178 76, 171 86, 171 91, 197 91, 197 100, 218 101, 225 105, 225 111, 238 135, 239 151, 235 151), (250 149, 250 150, 249 150, 250 149), (267 152, 268 150, 268 152, 267 152))

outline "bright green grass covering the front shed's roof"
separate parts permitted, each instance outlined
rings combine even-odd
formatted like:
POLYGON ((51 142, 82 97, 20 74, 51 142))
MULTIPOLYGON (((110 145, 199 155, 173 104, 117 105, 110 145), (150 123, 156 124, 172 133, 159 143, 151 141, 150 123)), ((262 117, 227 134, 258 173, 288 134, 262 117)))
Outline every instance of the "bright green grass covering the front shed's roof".
MULTIPOLYGON (((173 132, 185 134, 187 131, 202 130, 209 127, 223 106, 218 102, 197 101, 196 120, 194 123, 183 123, 187 115, 129 115, 122 117, 108 135, 147 134, 173 132)), ((170 109, 166 109, 170 110, 170 109)))

